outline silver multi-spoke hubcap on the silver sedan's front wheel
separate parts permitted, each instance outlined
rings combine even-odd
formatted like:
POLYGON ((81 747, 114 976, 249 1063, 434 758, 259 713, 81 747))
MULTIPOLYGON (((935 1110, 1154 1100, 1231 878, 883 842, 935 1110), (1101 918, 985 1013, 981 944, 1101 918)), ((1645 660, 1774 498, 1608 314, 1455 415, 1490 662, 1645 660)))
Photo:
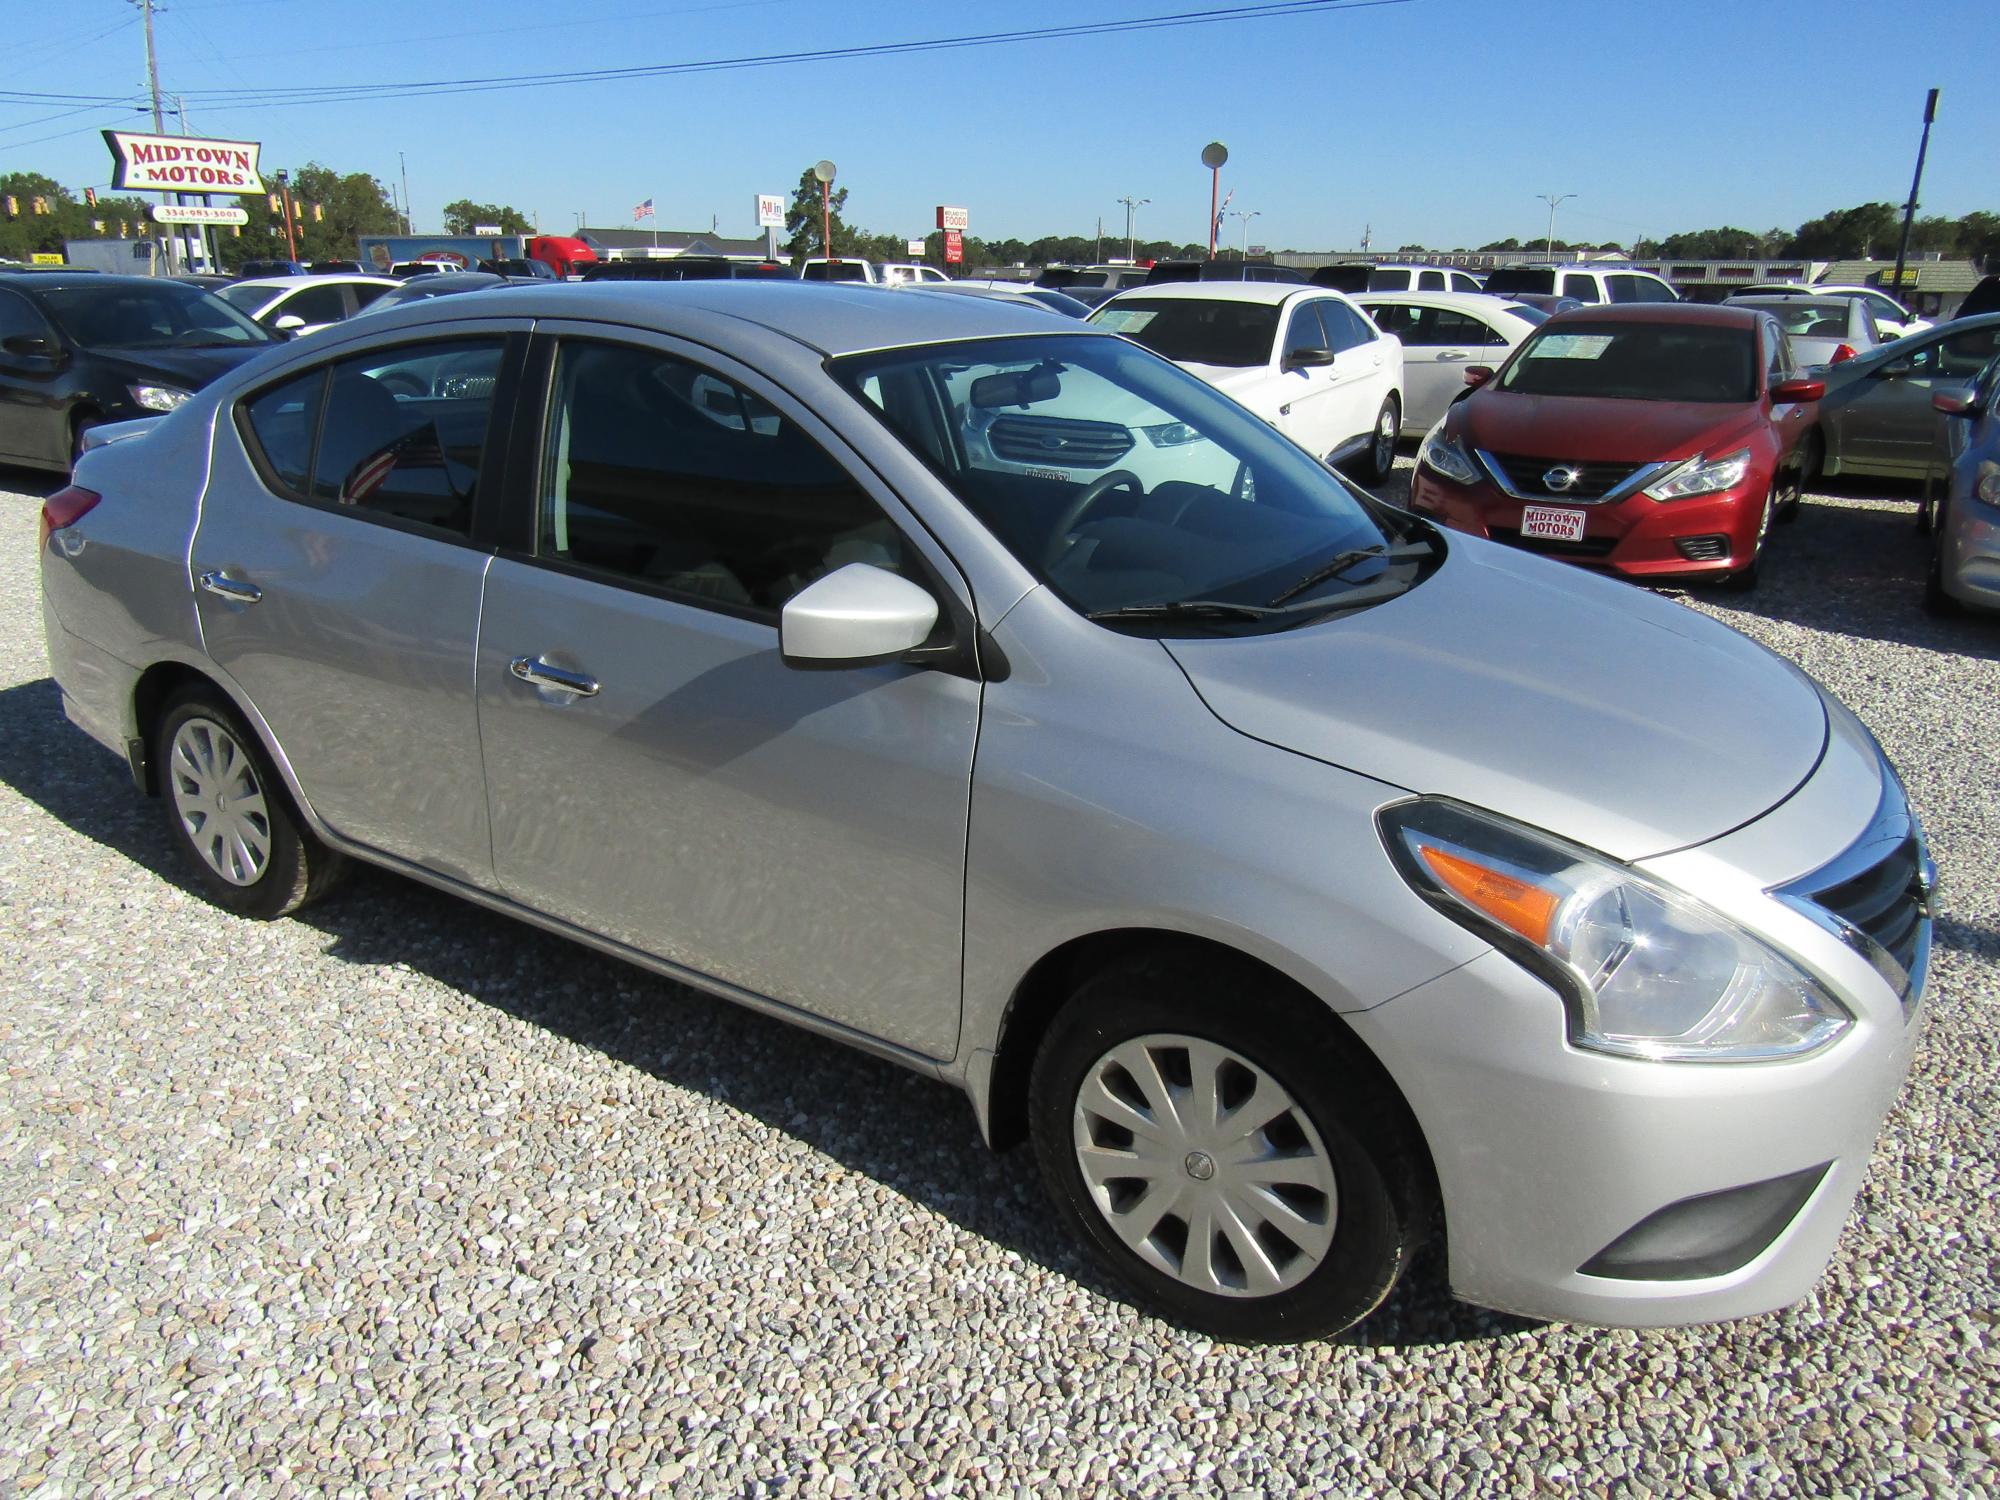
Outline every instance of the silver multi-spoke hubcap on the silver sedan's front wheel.
POLYGON ((1076 1164, 1140 1260, 1202 1292, 1272 1296, 1334 1242, 1334 1166, 1296 1100, 1198 1036, 1120 1042, 1076 1096, 1076 1164))

